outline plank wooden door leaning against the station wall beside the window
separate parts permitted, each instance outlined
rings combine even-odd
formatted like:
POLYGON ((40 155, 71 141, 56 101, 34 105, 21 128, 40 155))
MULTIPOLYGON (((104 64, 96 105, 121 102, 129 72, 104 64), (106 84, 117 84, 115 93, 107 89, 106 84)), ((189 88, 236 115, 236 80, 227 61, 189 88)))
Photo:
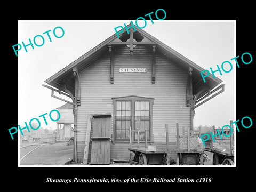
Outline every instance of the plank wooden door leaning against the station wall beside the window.
POLYGON ((93 115, 90 164, 110 164, 111 114, 93 115))

